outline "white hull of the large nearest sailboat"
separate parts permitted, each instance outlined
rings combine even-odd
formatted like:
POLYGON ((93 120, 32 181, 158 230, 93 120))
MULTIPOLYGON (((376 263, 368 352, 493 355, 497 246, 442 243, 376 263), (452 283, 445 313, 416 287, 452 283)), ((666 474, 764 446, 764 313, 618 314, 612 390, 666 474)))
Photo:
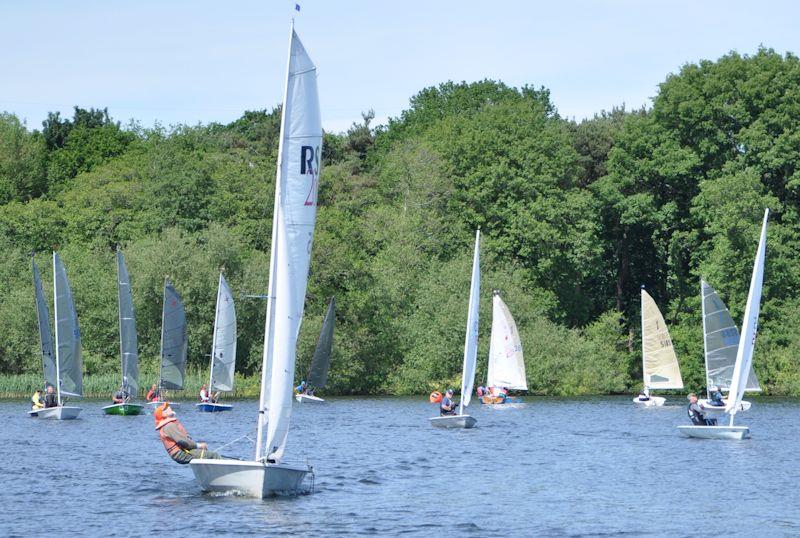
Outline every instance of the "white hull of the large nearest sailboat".
POLYGON ((262 499, 306 492, 303 480, 311 472, 308 465, 241 460, 193 459, 189 467, 205 492, 238 492, 262 499))

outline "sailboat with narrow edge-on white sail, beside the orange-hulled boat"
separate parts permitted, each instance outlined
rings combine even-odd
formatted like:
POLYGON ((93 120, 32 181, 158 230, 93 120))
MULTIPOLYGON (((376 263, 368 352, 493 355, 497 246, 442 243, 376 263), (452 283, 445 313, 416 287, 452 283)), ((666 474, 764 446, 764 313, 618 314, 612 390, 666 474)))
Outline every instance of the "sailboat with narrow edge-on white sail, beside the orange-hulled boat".
POLYGON ((475 382, 475 362, 478 357, 478 313, 481 295, 481 231, 475 232, 475 252, 472 255, 472 280, 469 286, 469 307, 467 309, 467 334, 464 339, 464 365, 461 372, 461 404, 457 415, 442 415, 430 420, 437 428, 472 428, 478 421, 467 414, 467 406, 472 398, 472 385, 475 382))

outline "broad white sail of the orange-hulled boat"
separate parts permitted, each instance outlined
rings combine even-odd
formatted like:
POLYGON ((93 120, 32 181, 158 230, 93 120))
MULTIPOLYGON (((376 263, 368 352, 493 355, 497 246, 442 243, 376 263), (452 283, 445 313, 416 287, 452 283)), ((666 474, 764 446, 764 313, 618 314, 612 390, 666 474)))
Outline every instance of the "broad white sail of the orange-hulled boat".
POLYGON ((528 390, 517 324, 500 298, 499 291, 494 292, 492 299, 492 336, 489 341, 486 386, 528 390))

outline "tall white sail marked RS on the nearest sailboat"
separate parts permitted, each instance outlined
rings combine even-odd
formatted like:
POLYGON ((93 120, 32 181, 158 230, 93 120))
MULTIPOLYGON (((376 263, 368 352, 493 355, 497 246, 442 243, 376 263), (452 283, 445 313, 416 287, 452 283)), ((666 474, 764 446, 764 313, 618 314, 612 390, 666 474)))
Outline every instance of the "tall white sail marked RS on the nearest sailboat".
MULTIPOLYGON (((294 28, 290 37, 279 145, 263 360, 269 388, 262 387, 260 403, 261 415, 267 415, 264 453, 272 461, 283 457, 289 431, 297 334, 308 282, 322 151, 316 67, 294 28)), ((262 453, 262 420, 259 421, 257 459, 262 453)))

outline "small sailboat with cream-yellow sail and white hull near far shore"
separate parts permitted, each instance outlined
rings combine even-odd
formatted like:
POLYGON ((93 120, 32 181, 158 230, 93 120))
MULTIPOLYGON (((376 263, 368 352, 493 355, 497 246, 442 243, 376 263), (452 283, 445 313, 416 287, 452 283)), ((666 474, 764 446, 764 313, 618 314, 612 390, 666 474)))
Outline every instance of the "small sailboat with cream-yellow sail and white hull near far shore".
POLYGON ((656 302, 642 287, 642 376, 646 400, 633 403, 645 407, 664 405, 666 398, 651 396, 651 389, 682 389, 681 368, 672 347, 672 338, 656 302))

